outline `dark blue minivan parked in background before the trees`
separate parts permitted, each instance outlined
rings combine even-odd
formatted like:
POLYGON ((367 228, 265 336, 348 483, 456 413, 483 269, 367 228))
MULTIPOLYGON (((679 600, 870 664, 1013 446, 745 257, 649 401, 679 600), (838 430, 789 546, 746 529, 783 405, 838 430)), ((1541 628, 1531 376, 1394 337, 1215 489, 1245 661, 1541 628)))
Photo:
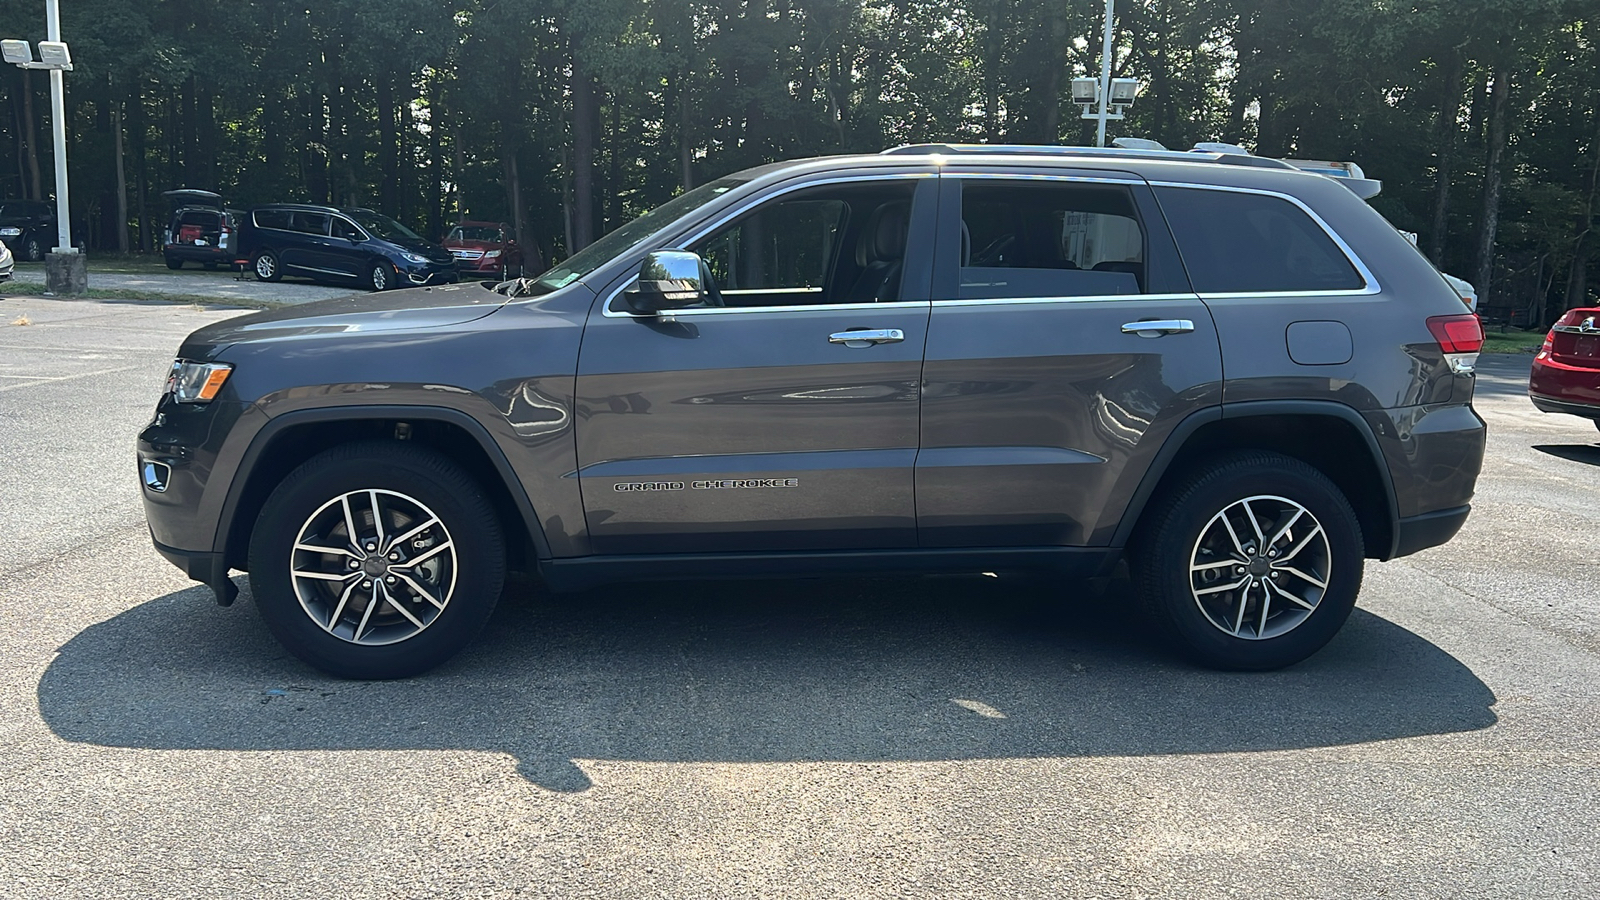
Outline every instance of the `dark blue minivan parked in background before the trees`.
POLYGON ((304 275, 389 290, 456 280, 456 258, 448 250, 373 210, 256 207, 245 218, 240 256, 262 282, 304 275))

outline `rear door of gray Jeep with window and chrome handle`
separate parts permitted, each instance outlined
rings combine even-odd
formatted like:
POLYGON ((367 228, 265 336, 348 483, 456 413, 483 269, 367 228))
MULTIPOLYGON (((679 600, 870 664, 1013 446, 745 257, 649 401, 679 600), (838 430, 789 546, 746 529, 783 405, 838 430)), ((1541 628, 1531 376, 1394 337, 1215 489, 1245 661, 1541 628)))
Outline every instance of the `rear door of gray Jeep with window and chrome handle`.
POLYGON ((1099 546, 1222 359, 1141 178, 947 167, 923 381, 922 546, 1099 546))

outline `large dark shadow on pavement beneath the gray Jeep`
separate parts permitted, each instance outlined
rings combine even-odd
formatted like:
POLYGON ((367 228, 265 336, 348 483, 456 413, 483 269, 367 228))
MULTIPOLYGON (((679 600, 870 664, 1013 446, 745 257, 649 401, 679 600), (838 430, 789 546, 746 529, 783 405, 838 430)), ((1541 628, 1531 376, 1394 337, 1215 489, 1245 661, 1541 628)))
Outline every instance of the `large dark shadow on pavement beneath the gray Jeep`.
POLYGON ((336 681, 285 655, 243 586, 234 609, 197 586, 77 634, 38 682, 45 722, 66 740, 123 748, 501 751, 555 791, 589 786, 582 759, 1238 753, 1496 722, 1472 671, 1381 617, 1357 610, 1286 671, 1213 673, 1152 645, 1117 581, 514 596, 466 653, 395 682, 336 681))

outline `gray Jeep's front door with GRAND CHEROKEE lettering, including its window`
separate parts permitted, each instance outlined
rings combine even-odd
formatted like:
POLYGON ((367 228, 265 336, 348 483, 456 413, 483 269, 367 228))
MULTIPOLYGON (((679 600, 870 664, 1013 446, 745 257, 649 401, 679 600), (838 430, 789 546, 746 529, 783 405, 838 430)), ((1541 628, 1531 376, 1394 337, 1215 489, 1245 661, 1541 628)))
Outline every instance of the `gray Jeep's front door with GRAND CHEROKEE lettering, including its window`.
POLYGON ((680 242, 722 306, 635 315, 632 279, 602 295, 576 418, 595 552, 917 546, 936 184, 875 176, 752 200, 680 242))

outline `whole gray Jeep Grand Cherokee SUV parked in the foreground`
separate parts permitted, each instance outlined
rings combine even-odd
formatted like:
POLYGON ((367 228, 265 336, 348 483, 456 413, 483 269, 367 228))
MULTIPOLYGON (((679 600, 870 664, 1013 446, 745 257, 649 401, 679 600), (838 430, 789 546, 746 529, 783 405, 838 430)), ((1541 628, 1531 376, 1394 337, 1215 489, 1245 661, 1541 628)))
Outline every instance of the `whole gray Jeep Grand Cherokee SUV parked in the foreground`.
POLYGON ((1275 160, 898 147, 696 187, 538 279, 184 341, 138 445, 157 549, 349 677, 552 588, 1110 572, 1190 658, 1314 653, 1363 559, 1450 540, 1477 319, 1275 160))

